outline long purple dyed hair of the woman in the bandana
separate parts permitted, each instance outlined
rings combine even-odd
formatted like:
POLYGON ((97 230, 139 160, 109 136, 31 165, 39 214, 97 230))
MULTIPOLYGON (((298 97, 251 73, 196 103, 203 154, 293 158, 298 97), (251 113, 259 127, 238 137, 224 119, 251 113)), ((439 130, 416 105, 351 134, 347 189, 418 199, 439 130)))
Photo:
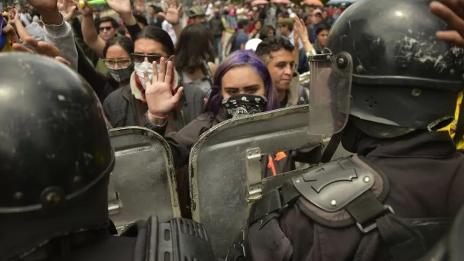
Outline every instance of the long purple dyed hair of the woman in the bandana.
POLYGON ((265 108, 266 111, 278 109, 280 105, 278 103, 277 93, 273 87, 271 74, 269 73, 266 64, 264 64, 263 60, 261 60, 261 58, 259 58, 254 52, 250 50, 238 50, 234 51, 219 65, 216 74, 214 75, 214 84, 211 88, 211 94, 206 111, 213 112, 214 114, 218 113, 223 100, 222 78, 227 72, 229 72, 229 70, 239 66, 250 66, 259 74, 259 76, 261 76, 261 79, 263 79, 266 99, 268 100, 265 108))

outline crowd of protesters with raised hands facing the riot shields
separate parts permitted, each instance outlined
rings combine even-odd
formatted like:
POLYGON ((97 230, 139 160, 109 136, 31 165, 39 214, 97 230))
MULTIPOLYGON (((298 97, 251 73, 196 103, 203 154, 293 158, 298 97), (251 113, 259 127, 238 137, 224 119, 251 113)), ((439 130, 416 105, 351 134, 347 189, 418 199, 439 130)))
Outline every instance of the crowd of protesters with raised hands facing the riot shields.
MULTIPOLYGON (((223 1, 186 7, 176 1, 146 2, 140 7, 130 0, 108 1, 103 10, 75 0, 46 2, 56 2, 56 8, 31 0, 31 5, 3 10, 8 24, 3 33, 11 47, 53 57, 76 70, 102 102, 108 126, 157 131, 172 145, 179 168, 187 164, 199 134, 232 117, 231 106, 240 102, 236 95, 252 95, 253 112, 307 104, 309 92, 300 85, 299 73, 309 70, 308 55, 323 50, 342 10, 223 1), (232 70, 237 64, 250 64, 254 71, 246 66, 232 70), (156 82, 161 74, 166 79, 169 74, 169 83, 156 82)), ((318 162, 317 149, 305 153, 316 156, 306 155, 303 162, 318 162)), ((294 169, 295 159, 288 160, 270 157, 270 174, 294 169)), ((179 169, 184 203, 185 173, 179 169)))

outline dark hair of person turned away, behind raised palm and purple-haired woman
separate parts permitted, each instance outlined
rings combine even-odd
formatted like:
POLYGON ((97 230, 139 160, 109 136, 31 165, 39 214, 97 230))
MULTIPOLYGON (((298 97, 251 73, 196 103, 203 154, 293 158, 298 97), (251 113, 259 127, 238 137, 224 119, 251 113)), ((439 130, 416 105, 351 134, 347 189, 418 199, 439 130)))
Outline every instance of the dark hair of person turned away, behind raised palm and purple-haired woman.
POLYGON ((196 23, 187 25, 177 40, 175 54, 176 69, 179 71, 192 73, 203 61, 214 62, 216 53, 206 26, 196 23))

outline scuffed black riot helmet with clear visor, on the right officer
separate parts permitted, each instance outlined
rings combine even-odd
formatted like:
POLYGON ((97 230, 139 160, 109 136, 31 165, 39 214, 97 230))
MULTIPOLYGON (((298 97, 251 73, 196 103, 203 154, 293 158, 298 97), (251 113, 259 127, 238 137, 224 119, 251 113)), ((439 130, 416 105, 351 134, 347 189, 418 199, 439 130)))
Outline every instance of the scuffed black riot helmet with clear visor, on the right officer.
MULTIPOLYGON (((311 91, 331 101, 335 132, 348 111, 377 137, 436 130, 451 121, 463 89, 464 49, 436 39, 447 26, 429 3, 359 0, 337 19, 324 53, 309 59, 311 91)), ((319 110, 318 117, 326 115, 319 110)))

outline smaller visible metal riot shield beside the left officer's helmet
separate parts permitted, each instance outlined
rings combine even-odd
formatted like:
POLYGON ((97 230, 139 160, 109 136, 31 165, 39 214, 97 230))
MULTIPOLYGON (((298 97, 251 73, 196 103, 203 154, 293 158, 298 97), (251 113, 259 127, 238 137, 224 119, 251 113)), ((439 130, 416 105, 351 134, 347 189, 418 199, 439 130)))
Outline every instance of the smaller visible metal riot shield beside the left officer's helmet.
POLYGON ((116 164, 108 185, 108 210, 118 231, 136 220, 181 217, 176 175, 168 142, 142 127, 109 131, 116 164))

